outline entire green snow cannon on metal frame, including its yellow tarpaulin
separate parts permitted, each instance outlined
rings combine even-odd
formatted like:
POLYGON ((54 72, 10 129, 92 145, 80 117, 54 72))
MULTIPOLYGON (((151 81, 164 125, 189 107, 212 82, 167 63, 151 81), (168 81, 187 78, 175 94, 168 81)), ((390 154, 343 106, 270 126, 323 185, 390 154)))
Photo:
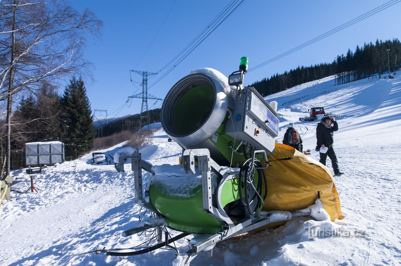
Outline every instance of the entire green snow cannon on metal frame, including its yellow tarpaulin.
POLYGON ((124 162, 131 159, 135 202, 154 214, 122 236, 154 230, 159 244, 132 252, 102 252, 130 256, 168 248, 181 258, 170 243, 192 234, 182 261, 188 265, 200 252, 251 230, 298 216, 340 217, 328 169, 275 143, 277 103, 270 105, 255 88, 243 87, 247 65, 248 59, 241 58, 239 70, 228 78, 212 68, 194 70, 167 93, 162 126, 182 147, 179 164, 153 166, 136 150, 117 151, 115 168, 123 172, 124 162), (146 183, 142 170, 150 173, 146 183), (169 238, 168 231, 181 233, 169 238))

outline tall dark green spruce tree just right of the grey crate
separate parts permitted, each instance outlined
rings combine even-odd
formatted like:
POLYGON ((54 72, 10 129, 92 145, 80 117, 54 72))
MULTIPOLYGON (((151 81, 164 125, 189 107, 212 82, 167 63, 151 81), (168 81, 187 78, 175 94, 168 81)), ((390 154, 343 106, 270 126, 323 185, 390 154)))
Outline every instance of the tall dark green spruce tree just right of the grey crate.
POLYGON ((73 77, 70 80, 61 98, 61 104, 65 109, 67 123, 64 138, 65 158, 73 160, 89 152, 95 139, 91 104, 81 77, 73 77))

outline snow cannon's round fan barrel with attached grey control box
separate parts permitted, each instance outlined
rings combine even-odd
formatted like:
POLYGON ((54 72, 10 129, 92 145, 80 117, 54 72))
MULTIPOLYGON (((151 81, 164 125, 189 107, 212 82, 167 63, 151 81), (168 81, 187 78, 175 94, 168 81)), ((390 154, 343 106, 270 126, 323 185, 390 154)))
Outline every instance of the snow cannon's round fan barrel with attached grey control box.
POLYGON ((208 149, 222 166, 240 165, 253 150, 273 154, 278 115, 255 88, 243 88, 244 66, 231 81, 201 68, 174 84, 161 111, 166 134, 186 150, 208 149))

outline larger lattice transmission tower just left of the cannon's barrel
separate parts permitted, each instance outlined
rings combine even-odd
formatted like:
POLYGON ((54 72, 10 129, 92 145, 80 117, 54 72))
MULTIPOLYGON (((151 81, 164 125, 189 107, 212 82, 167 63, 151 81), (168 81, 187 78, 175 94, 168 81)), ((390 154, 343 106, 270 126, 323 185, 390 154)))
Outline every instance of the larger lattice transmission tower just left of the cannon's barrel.
POLYGON ((143 128, 146 125, 150 124, 150 114, 148 108, 148 100, 162 100, 157 98, 156 96, 148 93, 148 76, 156 75, 157 73, 148 72, 148 71, 140 71, 140 70, 130 70, 130 72, 134 72, 137 74, 142 75, 142 92, 128 96, 128 98, 140 98, 142 99, 142 106, 141 106, 141 120, 140 120, 140 128, 143 128))

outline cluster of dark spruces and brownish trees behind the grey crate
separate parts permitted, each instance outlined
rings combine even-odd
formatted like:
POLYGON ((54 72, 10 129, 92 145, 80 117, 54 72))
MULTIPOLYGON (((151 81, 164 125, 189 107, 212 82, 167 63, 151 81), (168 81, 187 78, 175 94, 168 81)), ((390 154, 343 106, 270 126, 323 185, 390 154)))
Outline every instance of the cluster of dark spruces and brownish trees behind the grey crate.
POLYGON ((18 103, 13 114, 12 149, 19 150, 26 142, 58 140, 65 143, 65 158, 76 159, 93 147, 91 112, 82 78, 73 77, 63 96, 44 86, 18 103))

